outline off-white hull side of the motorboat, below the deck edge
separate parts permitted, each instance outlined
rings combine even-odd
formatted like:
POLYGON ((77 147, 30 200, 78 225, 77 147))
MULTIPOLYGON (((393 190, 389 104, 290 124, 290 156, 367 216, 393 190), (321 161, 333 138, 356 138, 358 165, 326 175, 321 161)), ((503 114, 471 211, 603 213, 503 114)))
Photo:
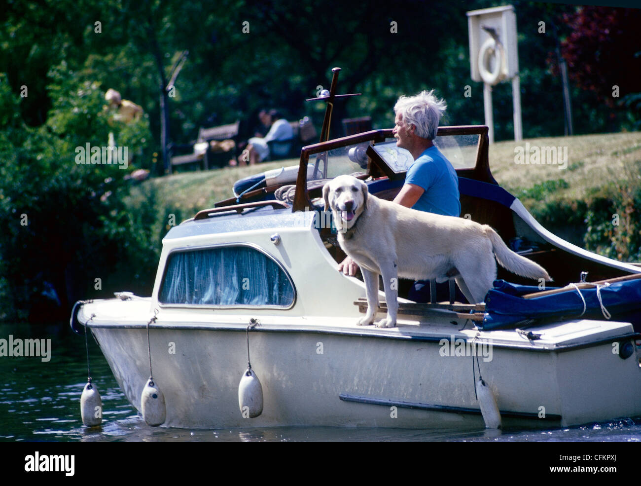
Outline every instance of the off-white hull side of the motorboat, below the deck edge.
MULTIPOLYGON (((469 340, 456 331, 447 339, 367 331, 250 331, 264 405, 259 417, 249 419, 238 406, 238 383, 247 368, 244 328, 151 328, 165 425, 482 428, 474 390, 479 369, 504 424, 549 428, 641 413, 638 357, 613 354, 612 340, 558 351, 495 345, 489 360, 479 347, 477 363, 474 356, 456 355, 469 340)), ((149 377, 146 329, 92 325, 92 332, 140 410, 149 377)))

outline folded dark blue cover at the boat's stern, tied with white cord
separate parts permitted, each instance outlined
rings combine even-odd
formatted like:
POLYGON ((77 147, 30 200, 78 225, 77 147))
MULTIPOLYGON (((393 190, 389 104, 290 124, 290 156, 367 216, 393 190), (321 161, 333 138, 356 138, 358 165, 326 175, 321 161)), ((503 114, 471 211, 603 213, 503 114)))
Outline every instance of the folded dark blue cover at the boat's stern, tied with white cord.
POLYGON ((495 280, 494 288, 485 297, 485 317, 477 326, 483 330, 515 328, 540 319, 606 319, 605 315, 610 314, 613 321, 630 322, 637 332, 641 329, 641 279, 601 286, 600 301, 596 287, 571 289, 530 299, 521 297, 539 291, 538 287, 531 285, 495 280), (579 297, 579 292, 583 299, 579 297))

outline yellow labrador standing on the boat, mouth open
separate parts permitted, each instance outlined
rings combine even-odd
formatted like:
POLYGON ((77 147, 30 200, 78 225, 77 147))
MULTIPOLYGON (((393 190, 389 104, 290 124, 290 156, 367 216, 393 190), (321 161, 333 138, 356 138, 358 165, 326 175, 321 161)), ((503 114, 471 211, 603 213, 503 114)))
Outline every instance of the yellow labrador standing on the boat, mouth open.
POLYGON ((374 323, 378 276, 383 276, 387 317, 376 326, 392 328, 398 312, 398 278, 456 283, 470 302, 480 303, 496 278, 496 260, 510 272, 551 280, 545 269, 517 255, 487 224, 417 211, 369 194, 352 176, 324 185, 325 210, 331 208, 340 247, 363 273, 367 314, 358 324, 374 323))

